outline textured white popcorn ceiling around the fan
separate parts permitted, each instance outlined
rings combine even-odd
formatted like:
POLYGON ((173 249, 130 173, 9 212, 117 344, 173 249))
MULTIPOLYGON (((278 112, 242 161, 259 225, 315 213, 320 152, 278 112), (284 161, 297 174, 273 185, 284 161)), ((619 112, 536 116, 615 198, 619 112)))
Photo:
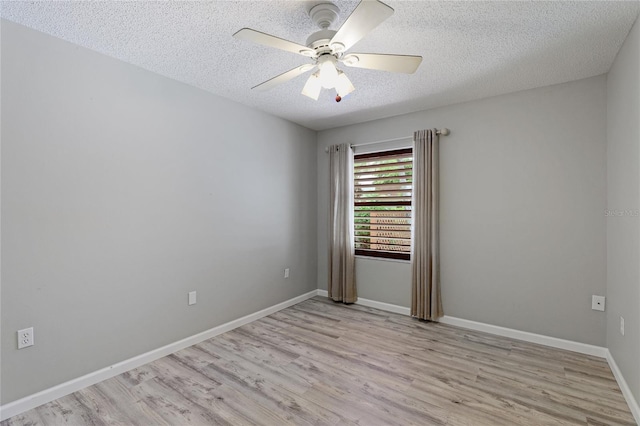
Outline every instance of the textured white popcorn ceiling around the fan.
MULTIPOLYGON (((320 1, 316 1, 318 3, 320 1)), ((358 1, 334 1, 337 29, 358 1)), ((394 15, 351 51, 422 55, 413 75, 343 67, 336 103, 300 91, 308 74, 250 88, 308 59, 236 40, 243 27, 300 44, 317 27, 299 1, 2 1, 3 18, 321 130, 607 72, 638 1, 385 1, 394 15)))

